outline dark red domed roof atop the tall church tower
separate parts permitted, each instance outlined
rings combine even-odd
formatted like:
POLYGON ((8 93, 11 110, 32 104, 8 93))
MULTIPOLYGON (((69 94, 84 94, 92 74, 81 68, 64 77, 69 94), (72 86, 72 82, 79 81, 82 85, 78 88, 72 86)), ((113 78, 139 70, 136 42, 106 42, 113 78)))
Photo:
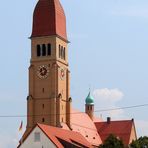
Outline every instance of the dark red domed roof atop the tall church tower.
POLYGON ((50 35, 67 40, 65 13, 59 0, 39 0, 33 14, 31 37, 50 35))

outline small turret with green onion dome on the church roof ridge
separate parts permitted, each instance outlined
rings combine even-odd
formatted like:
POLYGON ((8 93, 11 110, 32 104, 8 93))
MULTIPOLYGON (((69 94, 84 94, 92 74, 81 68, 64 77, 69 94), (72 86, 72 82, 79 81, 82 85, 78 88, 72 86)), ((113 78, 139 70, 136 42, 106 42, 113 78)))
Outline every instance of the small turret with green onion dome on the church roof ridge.
POLYGON ((94 117, 94 98, 89 92, 88 96, 85 99, 85 113, 93 120, 94 117))

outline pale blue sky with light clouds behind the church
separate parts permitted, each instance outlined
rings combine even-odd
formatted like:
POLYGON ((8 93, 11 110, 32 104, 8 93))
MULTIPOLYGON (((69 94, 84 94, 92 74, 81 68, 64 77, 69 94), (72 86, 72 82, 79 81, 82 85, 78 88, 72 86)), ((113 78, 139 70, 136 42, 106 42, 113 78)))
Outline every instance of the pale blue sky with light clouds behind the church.
MULTIPOLYGON (((32 13, 37 0, 0 5, 0 147, 15 148, 26 118, 32 13)), ((71 96, 84 111, 89 89, 95 114, 104 120, 135 120, 138 136, 148 136, 148 1, 61 0, 67 17, 71 96)))

